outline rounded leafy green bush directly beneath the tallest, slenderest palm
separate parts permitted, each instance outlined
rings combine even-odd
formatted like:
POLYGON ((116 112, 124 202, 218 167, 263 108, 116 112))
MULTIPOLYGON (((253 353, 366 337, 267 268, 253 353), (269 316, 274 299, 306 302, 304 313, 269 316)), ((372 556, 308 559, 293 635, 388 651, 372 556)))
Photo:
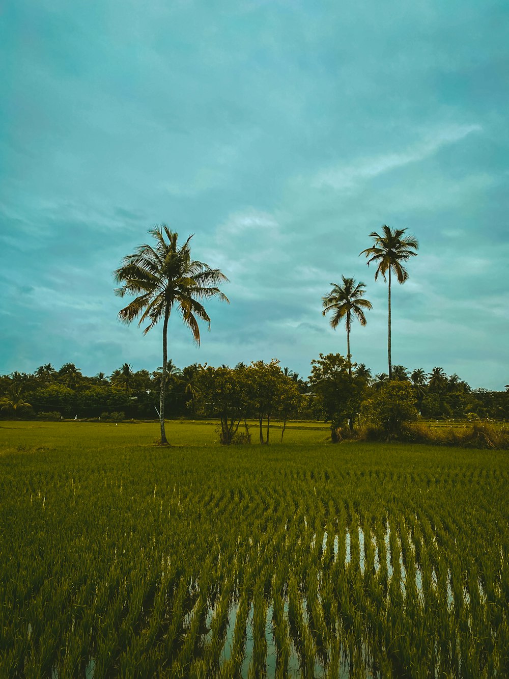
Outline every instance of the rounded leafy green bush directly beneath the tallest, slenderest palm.
POLYGON ((387 437, 400 433, 402 424, 415 420, 415 392, 409 382, 386 382, 362 404, 363 416, 387 437))

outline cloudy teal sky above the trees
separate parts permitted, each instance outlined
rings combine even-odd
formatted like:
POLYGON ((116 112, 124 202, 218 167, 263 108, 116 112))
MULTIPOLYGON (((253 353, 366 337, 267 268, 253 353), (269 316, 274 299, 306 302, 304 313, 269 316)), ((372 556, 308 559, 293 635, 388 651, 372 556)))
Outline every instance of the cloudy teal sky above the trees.
POLYGON ((359 253, 419 240, 392 363, 509 382, 509 7, 503 0, 17 0, 0 10, 0 373, 135 370, 112 272, 147 231, 195 234, 230 304, 176 365, 346 354, 341 276, 373 310, 352 357, 387 372, 387 286, 359 253))

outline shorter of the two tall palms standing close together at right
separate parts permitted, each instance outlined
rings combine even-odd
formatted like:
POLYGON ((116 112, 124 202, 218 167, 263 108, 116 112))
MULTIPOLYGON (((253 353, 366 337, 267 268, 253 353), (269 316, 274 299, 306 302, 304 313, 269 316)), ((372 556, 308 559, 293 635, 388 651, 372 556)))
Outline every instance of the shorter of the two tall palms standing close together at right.
POLYGON ((331 283, 332 290, 329 295, 322 297, 322 316, 327 312, 333 311, 331 327, 337 328, 339 321, 345 319, 348 374, 352 377, 352 354, 350 354, 350 328, 352 327, 352 314, 357 318, 360 325, 366 325, 365 309, 372 309, 371 301, 362 299, 364 297, 364 283, 356 285, 354 278, 343 278, 343 286, 331 283))

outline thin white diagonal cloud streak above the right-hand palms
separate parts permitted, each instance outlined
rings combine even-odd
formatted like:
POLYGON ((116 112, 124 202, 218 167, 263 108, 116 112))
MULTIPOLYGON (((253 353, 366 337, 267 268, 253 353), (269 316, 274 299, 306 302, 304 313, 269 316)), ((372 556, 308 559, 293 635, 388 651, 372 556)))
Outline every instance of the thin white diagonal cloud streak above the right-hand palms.
POLYGON ((324 170, 316 177, 313 185, 338 190, 352 189, 366 179, 373 179, 384 172, 429 158, 442 147, 461 141, 472 132, 480 132, 482 129, 480 125, 461 125, 437 130, 402 151, 362 158, 350 165, 324 170))

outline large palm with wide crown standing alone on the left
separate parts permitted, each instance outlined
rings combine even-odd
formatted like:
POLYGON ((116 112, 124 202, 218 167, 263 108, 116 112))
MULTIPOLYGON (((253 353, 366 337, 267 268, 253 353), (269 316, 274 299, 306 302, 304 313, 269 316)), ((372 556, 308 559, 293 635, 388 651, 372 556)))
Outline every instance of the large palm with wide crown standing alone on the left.
POLYGON ((166 368, 168 361, 168 320, 174 306, 178 308, 182 320, 189 327, 195 343, 200 345, 200 328, 197 318, 206 321, 210 329, 210 318, 200 304, 200 299, 219 297, 228 301, 217 284, 226 282, 227 277, 219 269, 211 269, 208 264, 191 259, 189 236, 186 242, 178 245, 178 234, 166 224, 149 230, 155 245, 143 244, 136 248, 133 255, 122 260, 119 269, 113 272, 117 283, 122 284, 115 290, 119 297, 136 295, 128 306, 119 311, 119 320, 132 323, 139 317, 138 327, 148 321, 143 333, 146 334, 159 320, 163 320, 163 362, 161 396, 159 400, 159 420, 161 424, 161 443, 167 444, 164 430, 164 394, 166 368))

